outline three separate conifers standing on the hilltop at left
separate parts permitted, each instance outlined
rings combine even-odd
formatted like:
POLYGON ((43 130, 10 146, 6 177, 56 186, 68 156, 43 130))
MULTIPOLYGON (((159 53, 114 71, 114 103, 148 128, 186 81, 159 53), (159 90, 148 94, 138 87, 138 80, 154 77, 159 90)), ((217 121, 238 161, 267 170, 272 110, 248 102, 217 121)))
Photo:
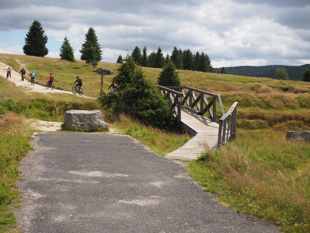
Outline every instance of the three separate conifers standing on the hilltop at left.
MULTIPOLYGON (((48 54, 48 48, 46 47, 47 39, 42 24, 38 20, 34 20, 25 37, 24 54, 37 57, 46 56, 48 54)), ((81 53, 81 60, 85 60, 86 63, 90 63, 93 66, 97 66, 102 59, 98 37, 92 27, 85 34, 85 41, 79 52, 81 53)), ((64 37, 59 55, 60 59, 75 62, 74 50, 67 36, 64 37)))

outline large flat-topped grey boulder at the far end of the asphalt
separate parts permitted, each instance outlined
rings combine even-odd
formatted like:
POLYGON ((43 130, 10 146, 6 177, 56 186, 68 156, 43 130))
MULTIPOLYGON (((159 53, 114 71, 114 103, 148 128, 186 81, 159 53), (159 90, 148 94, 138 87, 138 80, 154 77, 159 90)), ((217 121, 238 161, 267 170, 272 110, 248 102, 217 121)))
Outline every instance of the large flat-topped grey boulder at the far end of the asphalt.
POLYGON ((100 110, 69 110, 64 113, 64 125, 87 130, 108 128, 100 110))

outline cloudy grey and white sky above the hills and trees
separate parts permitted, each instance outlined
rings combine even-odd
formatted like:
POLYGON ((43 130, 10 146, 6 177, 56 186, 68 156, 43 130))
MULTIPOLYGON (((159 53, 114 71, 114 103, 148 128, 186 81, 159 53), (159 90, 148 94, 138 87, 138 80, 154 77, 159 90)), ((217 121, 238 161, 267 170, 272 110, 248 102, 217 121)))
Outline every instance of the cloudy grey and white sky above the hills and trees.
POLYGON ((34 19, 59 57, 67 35, 75 58, 89 27, 104 62, 137 45, 164 56, 176 46, 210 56, 213 67, 310 63, 310 0, 0 0, 0 53, 23 54, 34 19))

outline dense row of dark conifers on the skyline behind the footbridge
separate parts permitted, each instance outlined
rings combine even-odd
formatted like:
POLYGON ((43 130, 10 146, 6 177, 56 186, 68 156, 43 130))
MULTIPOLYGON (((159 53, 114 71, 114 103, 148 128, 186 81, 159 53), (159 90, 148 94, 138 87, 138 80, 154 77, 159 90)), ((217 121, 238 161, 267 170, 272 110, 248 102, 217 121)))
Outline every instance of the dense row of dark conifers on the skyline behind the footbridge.
MULTIPOLYGON (((175 67, 179 70, 214 72, 210 57, 207 54, 204 52, 192 53, 190 49, 182 51, 181 49, 174 47, 171 55, 167 53, 164 57, 161 47, 157 48, 157 52, 153 50, 148 54, 146 46, 143 47, 142 51, 136 46, 131 52, 131 57, 137 64, 144 67, 163 68, 165 64, 172 61, 175 64, 175 67)), ((122 55, 118 56, 116 62, 123 62, 122 55)))

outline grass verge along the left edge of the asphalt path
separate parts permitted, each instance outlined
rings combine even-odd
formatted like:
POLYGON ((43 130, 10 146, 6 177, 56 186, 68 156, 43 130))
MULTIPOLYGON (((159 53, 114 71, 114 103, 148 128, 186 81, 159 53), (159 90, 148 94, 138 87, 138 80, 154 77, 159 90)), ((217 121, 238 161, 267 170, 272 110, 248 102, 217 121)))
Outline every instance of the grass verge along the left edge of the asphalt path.
POLYGON ((20 160, 31 150, 31 130, 16 114, 7 113, 0 119, 0 232, 16 226, 12 205, 19 193, 14 183, 19 178, 20 160))

